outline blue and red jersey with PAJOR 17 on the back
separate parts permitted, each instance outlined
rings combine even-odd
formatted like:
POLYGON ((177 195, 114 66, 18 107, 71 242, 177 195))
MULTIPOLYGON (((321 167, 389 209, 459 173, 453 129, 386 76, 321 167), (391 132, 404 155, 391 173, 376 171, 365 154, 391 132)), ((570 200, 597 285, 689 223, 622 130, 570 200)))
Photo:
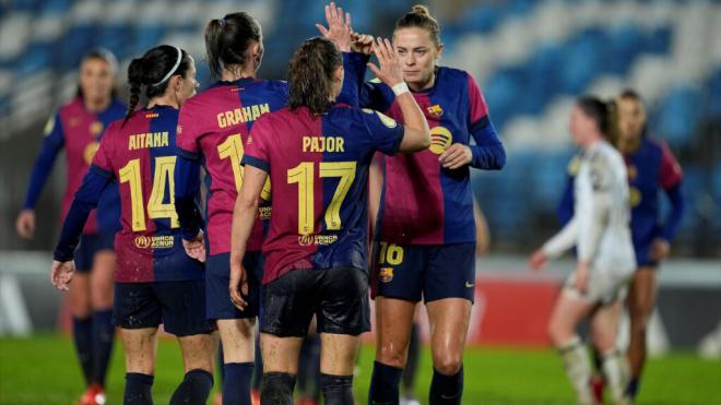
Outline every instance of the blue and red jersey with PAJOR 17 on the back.
POLYGON ((367 267, 368 167, 402 139, 393 119, 346 105, 321 116, 284 108, 256 122, 243 163, 273 184, 263 284, 298 269, 367 267))

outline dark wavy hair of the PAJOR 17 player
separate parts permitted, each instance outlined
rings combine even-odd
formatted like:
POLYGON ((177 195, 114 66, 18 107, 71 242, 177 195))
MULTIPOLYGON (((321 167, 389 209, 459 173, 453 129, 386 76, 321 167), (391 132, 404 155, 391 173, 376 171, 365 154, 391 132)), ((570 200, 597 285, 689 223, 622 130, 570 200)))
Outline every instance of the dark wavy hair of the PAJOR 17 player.
POLYGON ((343 55, 332 41, 315 37, 303 43, 288 67, 288 107, 308 107, 312 114, 326 112, 332 102, 333 72, 343 65, 343 55))

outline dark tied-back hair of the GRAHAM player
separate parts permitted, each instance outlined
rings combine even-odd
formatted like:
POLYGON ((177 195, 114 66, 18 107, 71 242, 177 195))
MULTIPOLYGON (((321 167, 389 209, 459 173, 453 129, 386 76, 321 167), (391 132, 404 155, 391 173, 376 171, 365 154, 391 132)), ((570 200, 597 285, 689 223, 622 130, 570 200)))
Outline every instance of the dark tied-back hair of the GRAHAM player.
POLYGON ((260 24, 245 11, 211 20, 205 26, 205 53, 211 75, 220 78, 223 67, 245 65, 248 47, 261 39, 260 24))

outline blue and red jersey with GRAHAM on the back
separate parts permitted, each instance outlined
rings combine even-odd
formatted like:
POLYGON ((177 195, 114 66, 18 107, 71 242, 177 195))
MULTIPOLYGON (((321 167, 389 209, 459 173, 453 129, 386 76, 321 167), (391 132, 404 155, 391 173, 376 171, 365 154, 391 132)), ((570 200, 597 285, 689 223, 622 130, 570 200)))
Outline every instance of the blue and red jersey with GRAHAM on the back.
MULTIPOLYGON (((215 83, 188 99, 180 110, 178 174, 182 174, 182 179, 177 181, 176 198, 184 201, 198 194, 197 179, 202 164, 209 181, 206 238, 211 254, 231 251, 233 207, 243 184, 240 159, 250 129, 261 116, 285 106, 286 100, 285 82, 240 79, 215 83)), ((270 199, 270 184, 264 190, 264 198, 270 199)), ((248 250, 261 249, 263 221, 270 217, 270 204, 262 203, 259 211, 248 250)), ((190 215, 181 215, 180 219, 184 231, 197 233, 187 230, 199 227, 190 215)))

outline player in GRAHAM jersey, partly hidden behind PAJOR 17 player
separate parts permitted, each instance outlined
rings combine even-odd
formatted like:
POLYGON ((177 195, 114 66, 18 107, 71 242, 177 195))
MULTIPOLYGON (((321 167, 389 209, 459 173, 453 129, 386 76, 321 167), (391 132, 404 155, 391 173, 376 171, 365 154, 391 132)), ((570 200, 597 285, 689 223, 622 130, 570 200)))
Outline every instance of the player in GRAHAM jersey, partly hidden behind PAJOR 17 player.
MULTIPOLYGON (((350 50, 350 45, 346 46, 350 50)), ((190 99, 180 111, 176 207, 185 238, 191 240, 200 229, 194 199, 200 189, 199 171, 203 162, 210 180, 206 308, 208 318, 215 321, 223 343, 223 401, 250 404, 255 357, 252 326, 258 315, 263 269, 260 249, 263 224, 268 223, 271 206, 261 204, 248 254, 244 258, 249 270, 248 301, 251 305, 243 311, 233 306, 227 289, 232 207, 244 181, 240 159, 248 133, 262 115, 285 106, 287 84, 257 78, 263 56, 262 31, 245 12, 212 20, 205 28, 205 49, 211 72, 220 80, 190 99)), ((270 199, 270 182, 262 196, 270 199)))

